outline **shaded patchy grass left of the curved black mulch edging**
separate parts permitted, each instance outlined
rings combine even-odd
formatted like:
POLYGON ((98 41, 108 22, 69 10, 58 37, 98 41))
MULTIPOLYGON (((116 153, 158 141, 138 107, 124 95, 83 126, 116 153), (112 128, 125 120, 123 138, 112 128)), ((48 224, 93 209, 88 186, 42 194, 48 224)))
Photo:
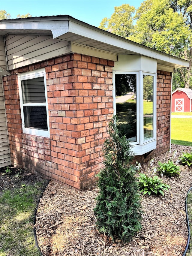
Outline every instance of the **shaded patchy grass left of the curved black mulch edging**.
POLYGON ((45 184, 21 183, 0 195, 0 256, 38 256, 35 245, 33 216, 45 184))

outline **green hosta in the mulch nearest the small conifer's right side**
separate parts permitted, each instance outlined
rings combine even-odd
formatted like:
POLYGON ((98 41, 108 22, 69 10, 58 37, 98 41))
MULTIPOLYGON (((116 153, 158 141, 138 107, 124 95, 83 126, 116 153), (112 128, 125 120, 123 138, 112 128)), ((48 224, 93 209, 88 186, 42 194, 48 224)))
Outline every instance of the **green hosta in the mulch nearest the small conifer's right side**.
POLYGON ((139 173, 139 185, 140 192, 143 195, 158 195, 161 194, 164 196, 164 190, 169 190, 170 185, 167 185, 163 182, 162 179, 159 179, 158 176, 147 176, 144 173, 139 173))

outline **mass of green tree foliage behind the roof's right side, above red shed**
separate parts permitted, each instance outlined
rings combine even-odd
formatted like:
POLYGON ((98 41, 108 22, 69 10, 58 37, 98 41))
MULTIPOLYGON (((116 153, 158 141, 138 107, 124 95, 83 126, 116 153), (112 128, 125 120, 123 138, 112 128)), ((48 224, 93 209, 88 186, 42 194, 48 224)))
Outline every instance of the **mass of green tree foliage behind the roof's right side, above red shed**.
MULTIPOLYGON (((119 8, 130 9, 130 5, 122 5, 119 8)), ((114 13, 115 14, 115 13, 114 13)), ((167 54, 189 60, 189 68, 177 70, 178 75, 185 88, 192 88, 192 1, 191 0, 146 0, 136 10, 135 16, 131 13, 128 33, 123 33, 121 16, 116 15, 116 21, 106 18, 106 24, 112 24, 111 32, 135 41, 137 43, 152 47, 167 54), (133 20, 135 24, 133 25, 133 20), (113 23, 111 23, 113 21, 113 23), (131 24, 131 25, 130 25, 131 24), (115 31, 114 31, 114 28, 115 31)), ((130 11, 128 13, 130 17, 130 11)), ((102 27, 101 27, 102 28, 102 27)), ((107 27, 109 29, 109 27, 107 27)), ((180 86, 175 84, 174 86, 180 86)))

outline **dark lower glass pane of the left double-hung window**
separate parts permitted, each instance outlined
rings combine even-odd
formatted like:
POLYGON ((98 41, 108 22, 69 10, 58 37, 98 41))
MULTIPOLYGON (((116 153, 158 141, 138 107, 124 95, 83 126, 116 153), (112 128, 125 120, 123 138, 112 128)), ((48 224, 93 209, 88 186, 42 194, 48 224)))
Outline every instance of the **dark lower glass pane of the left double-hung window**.
POLYGON ((47 130, 46 106, 23 106, 26 128, 47 130))

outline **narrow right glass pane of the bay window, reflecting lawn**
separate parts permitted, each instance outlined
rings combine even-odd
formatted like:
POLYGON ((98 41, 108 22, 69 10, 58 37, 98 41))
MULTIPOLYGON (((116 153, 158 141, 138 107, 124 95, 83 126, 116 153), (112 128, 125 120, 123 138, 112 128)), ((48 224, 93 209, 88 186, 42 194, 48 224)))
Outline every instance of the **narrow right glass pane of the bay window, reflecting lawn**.
POLYGON ((153 137, 153 76, 143 75, 144 140, 153 137))

